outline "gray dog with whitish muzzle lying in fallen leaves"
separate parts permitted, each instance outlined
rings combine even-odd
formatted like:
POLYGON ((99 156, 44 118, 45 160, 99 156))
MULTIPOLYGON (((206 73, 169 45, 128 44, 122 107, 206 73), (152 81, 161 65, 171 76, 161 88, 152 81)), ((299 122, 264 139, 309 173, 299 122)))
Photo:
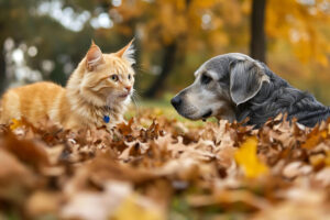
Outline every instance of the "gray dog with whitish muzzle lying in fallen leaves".
POLYGON ((261 127, 287 113, 288 120, 314 127, 330 117, 330 108, 314 96, 292 87, 265 64, 244 54, 216 56, 195 73, 195 81, 170 102, 179 114, 198 120, 209 117, 261 127))

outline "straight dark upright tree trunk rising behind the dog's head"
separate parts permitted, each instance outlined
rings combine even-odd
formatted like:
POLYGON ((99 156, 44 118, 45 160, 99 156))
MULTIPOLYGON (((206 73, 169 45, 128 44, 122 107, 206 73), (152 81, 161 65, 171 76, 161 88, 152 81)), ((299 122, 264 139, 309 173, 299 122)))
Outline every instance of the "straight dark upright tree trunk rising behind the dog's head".
POLYGON ((266 0, 252 1, 250 55, 266 63, 265 36, 266 0))

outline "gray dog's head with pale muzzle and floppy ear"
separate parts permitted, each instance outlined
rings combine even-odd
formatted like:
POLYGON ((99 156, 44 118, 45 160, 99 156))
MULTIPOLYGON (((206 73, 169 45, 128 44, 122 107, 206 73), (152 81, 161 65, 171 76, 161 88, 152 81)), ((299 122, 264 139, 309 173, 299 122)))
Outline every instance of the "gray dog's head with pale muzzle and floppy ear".
POLYGON ((191 120, 217 117, 234 120, 235 107, 252 99, 270 81, 261 63, 239 54, 216 56, 195 73, 195 81, 170 102, 191 120))

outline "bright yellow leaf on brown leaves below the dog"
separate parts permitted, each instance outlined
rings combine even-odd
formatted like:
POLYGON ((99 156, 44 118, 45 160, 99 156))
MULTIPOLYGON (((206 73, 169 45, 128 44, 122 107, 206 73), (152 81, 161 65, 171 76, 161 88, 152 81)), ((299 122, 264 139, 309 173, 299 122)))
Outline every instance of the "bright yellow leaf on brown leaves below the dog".
POLYGON ((235 161, 243 167, 246 177, 258 177, 268 172, 268 167, 256 155, 256 138, 249 138, 235 152, 235 161))

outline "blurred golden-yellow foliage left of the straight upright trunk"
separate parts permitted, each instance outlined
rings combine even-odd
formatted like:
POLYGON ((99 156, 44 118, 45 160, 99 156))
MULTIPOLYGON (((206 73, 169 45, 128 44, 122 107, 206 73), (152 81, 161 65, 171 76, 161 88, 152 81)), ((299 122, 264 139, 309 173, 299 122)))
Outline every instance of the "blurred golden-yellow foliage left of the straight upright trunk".
POLYGON ((123 1, 117 10, 123 19, 121 25, 138 24, 136 32, 146 48, 160 48, 175 41, 193 50, 205 44, 221 48, 228 44, 223 24, 234 25, 242 20, 237 0, 131 0, 123 1))

